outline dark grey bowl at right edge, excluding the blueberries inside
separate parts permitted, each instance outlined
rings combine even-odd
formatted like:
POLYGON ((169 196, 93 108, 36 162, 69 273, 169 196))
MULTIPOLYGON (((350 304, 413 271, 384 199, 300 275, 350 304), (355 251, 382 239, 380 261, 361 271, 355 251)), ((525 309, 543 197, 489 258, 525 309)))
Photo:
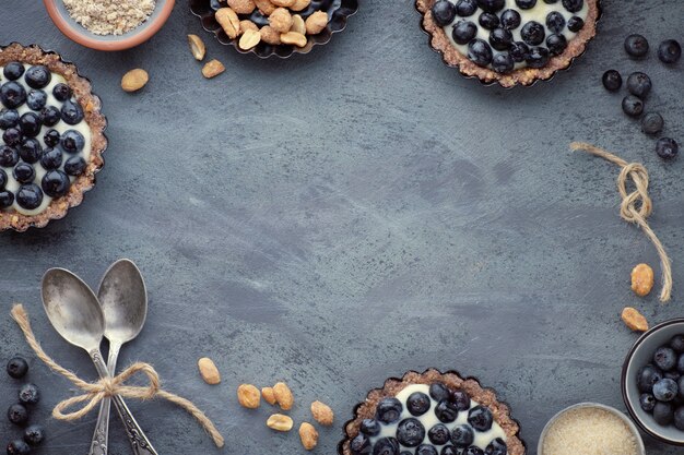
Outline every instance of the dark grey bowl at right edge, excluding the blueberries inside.
POLYGON ((684 334, 684 319, 665 321, 646 332, 636 340, 622 369, 622 396, 632 418, 647 434, 665 444, 684 446, 684 431, 674 426, 661 427, 653 417, 639 406, 640 392, 637 388, 637 371, 647 363, 651 363, 653 351, 667 345, 674 335, 684 334))

